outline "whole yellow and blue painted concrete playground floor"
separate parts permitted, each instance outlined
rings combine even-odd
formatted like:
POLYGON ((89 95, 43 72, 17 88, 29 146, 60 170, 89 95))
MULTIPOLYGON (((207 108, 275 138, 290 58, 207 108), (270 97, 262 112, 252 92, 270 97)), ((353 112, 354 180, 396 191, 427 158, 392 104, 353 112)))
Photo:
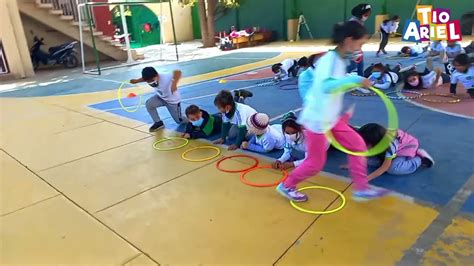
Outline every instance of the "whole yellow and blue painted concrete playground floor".
MULTIPOLYGON (((183 71, 183 108, 197 104, 216 112, 218 91, 245 88, 254 94, 248 104, 278 123, 287 111, 298 113, 301 101, 291 84, 257 86, 271 76, 268 66, 327 48, 271 48, 156 67, 183 71)), ((364 49, 366 65, 424 67, 424 59, 375 58, 372 46, 364 49)), ((188 162, 181 158, 184 151, 211 144, 192 140, 177 150, 155 150, 156 140, 181 129, 160 110, 167 129, 148 133, 145 86, 125 87, 120 95, 124 105, 138 106, 136 112, 120 107, 117 88, 139 76, 140 67, 98 77, 61 76, 0 93, 1 265, 474 265, 474 101, 463 93, 458 104, 393 100, 400 128, 433 155, 433 168, 383 175, 371 183, 392 193, 359 203, 351 199, 348 173, 339 168, 345 155, 330 151, 324 172, 301 187, 330 187, 347 202, 336 213, 313 215, 294 209, 274 187, 247 186, 239 174, 216 169, 220 158, 243 152, 220 146, 218 157, 188 162), (131 92, 142 101, 126 98, 131 92)), ((347 94, 345 101, 356 104, 353 125, 386 124, 377 97, 347 94)), ((244 154, 257 157, 260 165, 279 155, 244 154)), ((252 163, 235 158, 222 166, 241 169, 252 163)), ((248 176, 254 182, 279 178, 280 172, 267 169, 248 176)), ((305 208, 341 204, 329 191, 308 195, 305 208)))

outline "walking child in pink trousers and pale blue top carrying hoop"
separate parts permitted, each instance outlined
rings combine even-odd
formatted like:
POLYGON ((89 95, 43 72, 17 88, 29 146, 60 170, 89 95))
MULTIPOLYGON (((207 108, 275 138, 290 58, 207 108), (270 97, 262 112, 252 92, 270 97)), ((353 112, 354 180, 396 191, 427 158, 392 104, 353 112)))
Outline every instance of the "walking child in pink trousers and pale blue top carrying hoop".
MULTIPOLYGON (((326 132, 331 131, 336 140, 353 151, 365 151, 362 137, 340 117, 344 94, 337 91, 346 83, 359 83, 368 88, 371 83, 361 76, 346 76, 346 55, 360 50, 368 39, 367 31, 358 22, 348 21, 336 24, 333 30, 335 50, 327 52, 318 60, 313 86, 307 93, 306 102, 299 119, 305 128, 307 157, 276 190, 293 201, 306 201, 305 194, 296 190, 296 185, 315 176, 326 162, 326 132)), ((363 200, 381 197, 386 190, 371 188, 367 184, 367 164, 365 157, 349 156, 350 173, 355 183, 354 199, 363 200)))

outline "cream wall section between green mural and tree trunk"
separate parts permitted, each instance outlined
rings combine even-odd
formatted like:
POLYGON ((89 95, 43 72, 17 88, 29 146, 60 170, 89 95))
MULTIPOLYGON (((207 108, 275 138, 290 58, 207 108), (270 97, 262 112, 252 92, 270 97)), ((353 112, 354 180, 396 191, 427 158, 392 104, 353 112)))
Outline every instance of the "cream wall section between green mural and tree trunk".
MULTIPOLYGON (((173 26, 171 23, 171 13, 169 3, 162 4, 146 4, 148 8, 153 10, 155 14, 160 17, 163 15, 163 40, 165 43, 174 42, 173 26)), ((177 1, 172 1, 174 26, 176 31, 176 41, 191 41, 193 36, 193 24, 191 18, 191 8, 181 7, 177 1)))

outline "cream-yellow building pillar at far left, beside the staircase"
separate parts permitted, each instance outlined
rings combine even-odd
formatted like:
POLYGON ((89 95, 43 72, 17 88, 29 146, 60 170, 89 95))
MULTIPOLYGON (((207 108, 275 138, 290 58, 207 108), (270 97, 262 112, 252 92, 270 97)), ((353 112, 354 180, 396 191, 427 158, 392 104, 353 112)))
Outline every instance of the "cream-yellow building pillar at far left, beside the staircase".
POLYGON ((5 77, 33 77, 33 66, 16 1, 0 1, 0 25, 0 40, 11 74, 5 77))

